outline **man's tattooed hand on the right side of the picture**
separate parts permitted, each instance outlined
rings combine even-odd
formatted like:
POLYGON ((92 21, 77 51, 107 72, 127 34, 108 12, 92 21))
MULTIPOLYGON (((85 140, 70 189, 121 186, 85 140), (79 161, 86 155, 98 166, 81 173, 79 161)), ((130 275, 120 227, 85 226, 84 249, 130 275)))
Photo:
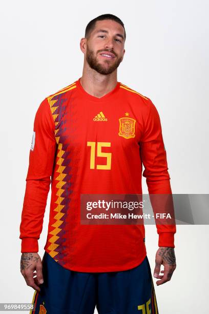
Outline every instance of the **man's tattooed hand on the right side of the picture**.
POLYGON ((157 286, 170 281, 174 270, 176 269, 176 257, 173 247, 161 246, 157 250, 155 257, 155 269, 154 277, 161 279, 156 281, 157 286), (160 271, 161 264, 164 266, 164 270, 160 271), (162 272, 163 275, 159 275, 162 272))

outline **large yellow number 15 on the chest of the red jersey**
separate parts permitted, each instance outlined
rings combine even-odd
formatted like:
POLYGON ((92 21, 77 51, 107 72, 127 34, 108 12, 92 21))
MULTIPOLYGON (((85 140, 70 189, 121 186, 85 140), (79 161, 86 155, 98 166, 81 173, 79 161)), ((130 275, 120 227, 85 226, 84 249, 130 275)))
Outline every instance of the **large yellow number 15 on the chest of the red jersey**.
MULTIPOLYGON (((87 146, 91 147, 91 156, 90 156, 90 169, 95 169, 95 147, 96 142, 87 142, 87 146)), ((102 147, 110 147, 111 143, 108 142, 97 142, 97 157, 107 158, 106 165, 96 165, 96 169, 110 170, 111 169, 111 157, 112 153, 102 152, 102 147)))

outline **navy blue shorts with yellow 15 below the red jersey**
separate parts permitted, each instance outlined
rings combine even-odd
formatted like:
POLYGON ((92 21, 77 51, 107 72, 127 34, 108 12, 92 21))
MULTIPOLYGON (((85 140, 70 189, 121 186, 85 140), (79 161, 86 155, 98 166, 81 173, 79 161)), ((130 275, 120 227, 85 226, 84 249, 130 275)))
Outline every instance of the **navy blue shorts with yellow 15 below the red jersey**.
POLYGON ((147 256, 132 269, 78 272, 59 265, 45 251, 40 292, 35 290, 31 314, 158 314, 147 256))

